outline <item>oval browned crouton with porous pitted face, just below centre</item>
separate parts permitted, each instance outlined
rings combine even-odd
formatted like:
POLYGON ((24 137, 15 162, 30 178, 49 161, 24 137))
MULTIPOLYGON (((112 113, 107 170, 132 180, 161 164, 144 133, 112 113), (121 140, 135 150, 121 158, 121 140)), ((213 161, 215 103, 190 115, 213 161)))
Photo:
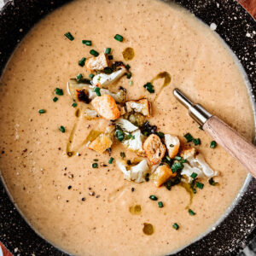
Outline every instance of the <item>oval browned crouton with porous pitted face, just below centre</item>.
POLYGON ((148 160, 156 165, 165 156, 166 146, 161 142, 160 137, 151 134, 143 143, 143 149, 148 157, 148 160))

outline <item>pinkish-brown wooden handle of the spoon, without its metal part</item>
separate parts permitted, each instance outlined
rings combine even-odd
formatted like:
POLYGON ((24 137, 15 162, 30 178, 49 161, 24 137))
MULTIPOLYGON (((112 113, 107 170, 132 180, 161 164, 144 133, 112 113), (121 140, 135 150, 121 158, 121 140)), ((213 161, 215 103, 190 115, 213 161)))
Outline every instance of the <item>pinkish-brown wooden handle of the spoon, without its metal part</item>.
POLYGON ((253 177, 256 177, 256 147, 241 137, 229 125, 221 119, 212 116, 203 125, 214 140, 230 153, 242 166, 244 166, 253 177))

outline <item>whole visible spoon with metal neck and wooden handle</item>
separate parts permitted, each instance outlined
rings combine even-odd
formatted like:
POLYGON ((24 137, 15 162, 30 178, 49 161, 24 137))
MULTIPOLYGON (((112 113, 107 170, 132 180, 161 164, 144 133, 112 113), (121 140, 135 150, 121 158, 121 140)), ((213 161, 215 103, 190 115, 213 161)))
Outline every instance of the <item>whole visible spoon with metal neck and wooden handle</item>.
POLYGON ((173 90, 174 96, 186 108, 189 109, 189 115, 195 121, 202 125, 204 131, 219 144, 228 153, 230 153, 238 162, 244 166, 253 177, 256 177, 256 147, 241 137, 235 130, 217 116, 207 112, 200 104, 194 104, 187 96, 177 88, 173 90))

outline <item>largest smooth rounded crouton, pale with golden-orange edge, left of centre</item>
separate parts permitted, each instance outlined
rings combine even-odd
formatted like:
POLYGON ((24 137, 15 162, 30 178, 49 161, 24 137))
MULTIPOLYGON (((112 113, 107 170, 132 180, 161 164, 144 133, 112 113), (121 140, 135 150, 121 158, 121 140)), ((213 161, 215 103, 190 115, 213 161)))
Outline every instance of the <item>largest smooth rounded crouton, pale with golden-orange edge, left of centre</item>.
POLYGON ((91 101, 93 108, 103 118, 108 120, 119 119, 120 112, 114 99, 110 95, 97 96, 91 101))

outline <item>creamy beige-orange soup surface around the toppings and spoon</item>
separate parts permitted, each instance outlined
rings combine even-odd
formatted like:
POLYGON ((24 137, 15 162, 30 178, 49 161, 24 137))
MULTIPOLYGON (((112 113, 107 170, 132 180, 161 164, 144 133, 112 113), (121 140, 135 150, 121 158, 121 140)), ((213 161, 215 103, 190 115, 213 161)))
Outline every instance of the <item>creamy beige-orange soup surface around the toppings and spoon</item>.
POLYGON ((15 205, 41 236, 75 255, 163 255, 195 241, 224 214, 247 172, 223 148, 210 147, 212 138, 172 95, 175 87, 252 140, 253 110, 239 67, 218 36, 187 11, 154 0, 80 0, 32 28, 1 79, 0 165, 15 205), (113 38, 116 34, 123 42, 113 38), (128 47, 125 59, 131 60, 125 61, 128 47), (83 143, 91 130, 104 131, 108 121, 84 119, 78 113, 84 103, 73 105, 67 81, 79 73, 89 78, 78 62, 92 56, 90 49, 106 48, 115 61, 131 66, 131 79, 122 77, 111 90, 122 86, 128 100, 147 98, 149 123, 181 144, 188 132, 200 138, 201 145, 190 146, 218 172, 218 185, 203 177, 204 187, 191 195, 183 183, 168 190, 151 180, 131 182, 116 161, 120 152, 126 160, 137 154, 122 143, 103 154, 83 143), (154 78, 162 72, 172 81, 160 91, 163 79, 154 78), (143 85, 153 79, 149 93, 143 85), (68 147, 77 148, 72 156, 68 147))

